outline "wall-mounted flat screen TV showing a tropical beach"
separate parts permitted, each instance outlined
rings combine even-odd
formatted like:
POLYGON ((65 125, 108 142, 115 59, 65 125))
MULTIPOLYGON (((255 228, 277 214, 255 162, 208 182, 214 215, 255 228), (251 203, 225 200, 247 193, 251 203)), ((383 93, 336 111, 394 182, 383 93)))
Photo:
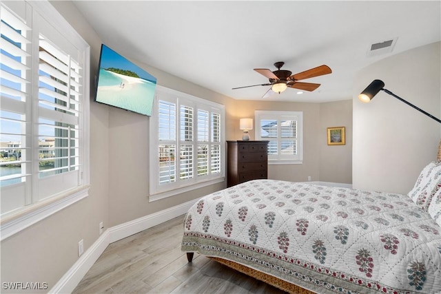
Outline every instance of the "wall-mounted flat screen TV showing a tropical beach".
POLYGON ((95 101, 152 115, 156 78, 106 45, 101 45, 95 101))

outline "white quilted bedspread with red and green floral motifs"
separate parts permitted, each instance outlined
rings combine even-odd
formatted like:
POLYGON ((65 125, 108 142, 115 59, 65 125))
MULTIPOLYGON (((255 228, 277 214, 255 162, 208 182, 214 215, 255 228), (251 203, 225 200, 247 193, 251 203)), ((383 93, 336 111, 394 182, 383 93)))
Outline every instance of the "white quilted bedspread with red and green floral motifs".
POLYGON ((408 196, 252 180, 198 200, 182 250, 317 293, 441 293, 441 228, 408 196))

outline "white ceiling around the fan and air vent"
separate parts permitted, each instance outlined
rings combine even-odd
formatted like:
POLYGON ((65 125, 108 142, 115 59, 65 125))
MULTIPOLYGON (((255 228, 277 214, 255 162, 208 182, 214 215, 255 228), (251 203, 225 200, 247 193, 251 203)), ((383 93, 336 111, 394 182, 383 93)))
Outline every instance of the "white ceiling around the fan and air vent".
MULTIPOLYGON (((362 67, 440 41, 440 1, 74 1, 103 43, 140 61, 236 99, 261 99, 269 86, 254 68, 293 74, 326 64, 332 74, 269 101, 350 99, 362 67), (393 52, 370 45, 398 38, 393 52)), ((409 68, 409 70, 412 70, 409 68)), ((161 81, 158 81, 161 84, 161 81)), ((362 90, 362 89, 361 89, 362 90)))

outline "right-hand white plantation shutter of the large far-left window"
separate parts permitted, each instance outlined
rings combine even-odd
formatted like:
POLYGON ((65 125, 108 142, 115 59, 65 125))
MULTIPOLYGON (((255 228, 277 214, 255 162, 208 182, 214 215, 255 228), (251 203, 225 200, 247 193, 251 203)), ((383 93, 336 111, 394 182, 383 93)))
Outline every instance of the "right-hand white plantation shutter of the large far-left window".
POLYGON ((81 67, 43 36, 39 44, 39 142, 54 143, 39 147, 40 162, 53 162, 50 169, 40 167, 43 178, 79 170, 81 67))

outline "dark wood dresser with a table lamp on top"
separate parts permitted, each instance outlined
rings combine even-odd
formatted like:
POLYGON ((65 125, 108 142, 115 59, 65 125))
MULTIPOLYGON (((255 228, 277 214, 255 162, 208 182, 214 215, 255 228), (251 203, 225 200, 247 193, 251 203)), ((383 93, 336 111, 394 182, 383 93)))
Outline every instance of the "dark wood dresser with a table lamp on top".
POLYGON ((269 141, 227 141, 227 186, 268 178, 269 141))

